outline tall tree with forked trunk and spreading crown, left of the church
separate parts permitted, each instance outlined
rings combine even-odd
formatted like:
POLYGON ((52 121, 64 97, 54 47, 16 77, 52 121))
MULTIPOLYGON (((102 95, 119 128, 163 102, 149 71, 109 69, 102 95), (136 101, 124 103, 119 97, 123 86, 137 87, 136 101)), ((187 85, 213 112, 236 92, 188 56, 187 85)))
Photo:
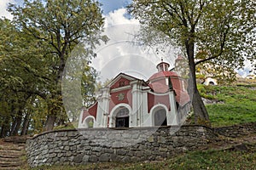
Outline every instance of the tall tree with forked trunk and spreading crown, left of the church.
POLYGON ((27 35, 44 43, 48 75, 46 98, 49 114, 45 129, 51 130, 60 113, 61 79, 68 55, 79 42, 86 42, 86 54, 92 53, 102 39, 103 18, 99 3, 91 0, 25 0, 23 6, 10 5, 13 22, 27 35))

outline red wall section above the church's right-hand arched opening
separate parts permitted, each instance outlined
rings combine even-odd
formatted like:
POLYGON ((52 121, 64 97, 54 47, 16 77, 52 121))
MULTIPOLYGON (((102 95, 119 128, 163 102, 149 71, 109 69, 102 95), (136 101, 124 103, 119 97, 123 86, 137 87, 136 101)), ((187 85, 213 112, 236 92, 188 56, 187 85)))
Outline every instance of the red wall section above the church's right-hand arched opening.
POLYGON ((150 112, 152 107, 157 104, 166 105, 168 111, 171 111, 170 99, 168 94, 155 96, 154 94, 148 93, 148 113, 150 112))

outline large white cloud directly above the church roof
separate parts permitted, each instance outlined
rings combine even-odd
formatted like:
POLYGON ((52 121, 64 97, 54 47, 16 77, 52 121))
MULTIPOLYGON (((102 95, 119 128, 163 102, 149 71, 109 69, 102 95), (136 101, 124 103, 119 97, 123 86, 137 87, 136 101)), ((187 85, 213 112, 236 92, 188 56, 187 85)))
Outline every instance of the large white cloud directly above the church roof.
POLYGON ((125 17, 125 8, 119 8, 105 17, 105 34, 109 37, 107 44, 96 48, 96 59, 92 66, 101 72, 102 82, 125 72, 144 80, 154 74, 155 66, 163 57, 172 64, 170 54, 154 54, 154 50, 145 50, 134 40, 133 35, 139 31, 139 22, 125 17))

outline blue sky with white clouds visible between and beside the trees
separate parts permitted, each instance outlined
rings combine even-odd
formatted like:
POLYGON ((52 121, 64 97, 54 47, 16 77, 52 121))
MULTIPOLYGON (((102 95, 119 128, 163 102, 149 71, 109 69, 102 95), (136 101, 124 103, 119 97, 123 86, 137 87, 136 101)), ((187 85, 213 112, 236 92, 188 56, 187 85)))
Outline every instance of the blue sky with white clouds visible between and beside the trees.
MULTIPOLYGON (((22 0, 0 0, 0 17, 12 19, 12 15, 6 11, 8 3, 22 4, 22 0)), ((155 65, 163 58, 164 61, 174 65, 177 57, 175 49, 166 47, 165 53, 156 54, 154 49, 144 49, 137 45, 133 35, 139 31, 138 20, 127 17, 125 6, 131 0, 99 0, 102 3, 102 11, 105 18, 105 32, 110 40, 96 48, 96 59, 92 60, 92 66, 101 72, 101 82, 107 78, 113 78, 124 72, 133 77, 145 81, 156 72, 155 65)), ((238 71, 245 77, 252 69, 246 61, 244 70, 238 71)))

